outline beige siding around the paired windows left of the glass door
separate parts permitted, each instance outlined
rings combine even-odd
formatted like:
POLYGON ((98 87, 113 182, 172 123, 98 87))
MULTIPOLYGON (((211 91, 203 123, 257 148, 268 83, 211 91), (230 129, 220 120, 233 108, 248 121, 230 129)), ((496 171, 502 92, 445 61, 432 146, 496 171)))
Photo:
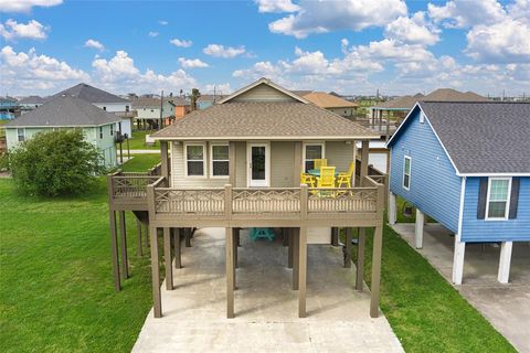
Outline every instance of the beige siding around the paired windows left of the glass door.
POLYGON ((189 178, 184 175, 184 147, 182 142, 171 146, 171 186, 173 188, 222 188, 229 183, 229 178, 210 178, 210 146, 206 143, 205 178, 189 178))

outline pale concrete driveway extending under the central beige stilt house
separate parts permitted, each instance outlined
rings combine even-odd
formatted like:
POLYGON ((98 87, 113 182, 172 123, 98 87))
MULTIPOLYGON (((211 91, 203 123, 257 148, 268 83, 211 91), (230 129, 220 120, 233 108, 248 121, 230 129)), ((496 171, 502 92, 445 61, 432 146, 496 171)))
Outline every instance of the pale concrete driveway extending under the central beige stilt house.
POLYGON ((174 290, 162 285, 163 317, 151 310, 132 352, 403 352, 384 315, 370 318, 369 291, 354 290, 340 248, 309 246, 308 317, 299 319, 287 248, 246 235, 235 318, 225 318, 224 228, 200 229, 173 271, 174 290))

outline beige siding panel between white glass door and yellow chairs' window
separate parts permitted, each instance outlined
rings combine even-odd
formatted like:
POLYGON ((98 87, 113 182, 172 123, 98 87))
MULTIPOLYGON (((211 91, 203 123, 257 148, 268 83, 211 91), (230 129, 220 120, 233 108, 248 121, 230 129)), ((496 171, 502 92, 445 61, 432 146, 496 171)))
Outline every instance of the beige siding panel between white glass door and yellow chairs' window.
POLYGON ((271 142, 271 186, 293 188, 295 142, 271 142))

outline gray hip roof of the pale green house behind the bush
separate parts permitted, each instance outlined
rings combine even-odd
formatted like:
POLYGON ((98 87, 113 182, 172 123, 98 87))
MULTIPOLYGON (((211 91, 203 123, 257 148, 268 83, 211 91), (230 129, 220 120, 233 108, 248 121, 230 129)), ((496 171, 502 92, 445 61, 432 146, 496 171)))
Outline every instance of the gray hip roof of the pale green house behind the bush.
POLYGON ((59 96, 20 117, 7 127, 81 127, 100 126, 121 118, 99 109, 92 103, 72 96, 59 96))

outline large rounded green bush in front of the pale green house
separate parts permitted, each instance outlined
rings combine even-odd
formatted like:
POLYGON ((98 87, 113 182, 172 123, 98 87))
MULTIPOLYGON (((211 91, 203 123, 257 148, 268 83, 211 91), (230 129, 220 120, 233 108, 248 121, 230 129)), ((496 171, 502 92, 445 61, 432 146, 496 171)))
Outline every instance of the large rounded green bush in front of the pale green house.
POLYGON ((9 160, 19 189, 46 196, 84 192, 105 172, 99 150, 77 130, 36 133, 17 147, 9 160))

